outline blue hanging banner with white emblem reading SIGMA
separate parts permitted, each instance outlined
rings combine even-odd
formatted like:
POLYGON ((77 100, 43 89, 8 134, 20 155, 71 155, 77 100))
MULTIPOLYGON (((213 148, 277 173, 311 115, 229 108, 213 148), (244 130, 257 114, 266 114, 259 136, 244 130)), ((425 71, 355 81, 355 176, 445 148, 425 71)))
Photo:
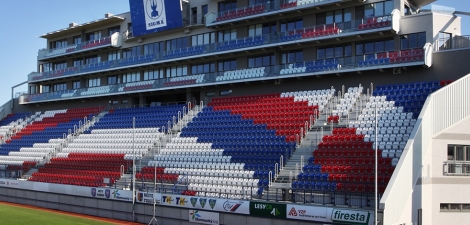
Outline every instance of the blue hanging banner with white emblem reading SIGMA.
POLYGON ((180 0, 129 0, 134 37, 183 26, 180 0))

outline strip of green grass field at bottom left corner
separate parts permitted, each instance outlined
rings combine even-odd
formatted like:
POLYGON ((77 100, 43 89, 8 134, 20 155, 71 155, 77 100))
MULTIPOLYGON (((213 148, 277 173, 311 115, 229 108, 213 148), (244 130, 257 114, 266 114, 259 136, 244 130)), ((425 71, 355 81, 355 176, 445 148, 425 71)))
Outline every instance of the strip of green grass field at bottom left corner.
POLYGON ((61 213, 48 212, 0 204, 0 224, 23 225, 23 224, 47 224, 47 225, 108 225, 104 221, 82 218, 78 216, 64 215, 61 213))

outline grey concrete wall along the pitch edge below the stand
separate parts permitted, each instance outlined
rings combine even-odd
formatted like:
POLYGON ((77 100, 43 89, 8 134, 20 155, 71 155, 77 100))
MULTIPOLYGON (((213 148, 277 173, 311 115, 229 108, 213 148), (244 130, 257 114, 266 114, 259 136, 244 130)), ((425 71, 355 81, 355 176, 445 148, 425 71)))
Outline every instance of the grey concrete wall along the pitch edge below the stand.
MULTIPOLYGON (((132 221, 132 203, 109 201, 61 195, 37 191, 28 191, 11 188, 0 188, 0 201, 18 204, 32 205, 42 208, 87 214, 98 217, 113 218, 118 220, 132 221)), ((159 224, 164 225, 189 225, 189 210, 175 207, 157 206, 155 216, 159 224)), ((153 217, 153 205, 135 205, 135 217, 139 223, 147 224, 153 217)), ((321 225, 321 223, 274 220, 268 218, 249 217, 245 215, 220 213, 220 224, 226 225, 321 225)))

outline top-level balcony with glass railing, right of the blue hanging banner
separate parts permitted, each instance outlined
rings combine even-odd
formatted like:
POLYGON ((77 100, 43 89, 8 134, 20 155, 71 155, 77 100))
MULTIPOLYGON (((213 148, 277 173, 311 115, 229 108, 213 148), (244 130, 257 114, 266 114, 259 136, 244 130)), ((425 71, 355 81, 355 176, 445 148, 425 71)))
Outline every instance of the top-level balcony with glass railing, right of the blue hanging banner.
POLYGON ((322 5, 345 2, 345 0, 280 0, 264 4, 251 5, 206 16, 206 26, 216 26, 261 16, 308 9, 322 5))

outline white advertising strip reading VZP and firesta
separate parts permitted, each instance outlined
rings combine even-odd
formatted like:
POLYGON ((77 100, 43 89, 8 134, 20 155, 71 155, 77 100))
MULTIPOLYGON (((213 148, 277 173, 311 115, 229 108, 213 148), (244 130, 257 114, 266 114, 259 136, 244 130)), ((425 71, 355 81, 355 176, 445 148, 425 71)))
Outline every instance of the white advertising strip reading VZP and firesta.
POLYGON ((287 218, 312 222, 338 222, 361 225, 373 224, 373 214, 371 211, 308 205, 287 204, 287 218))

